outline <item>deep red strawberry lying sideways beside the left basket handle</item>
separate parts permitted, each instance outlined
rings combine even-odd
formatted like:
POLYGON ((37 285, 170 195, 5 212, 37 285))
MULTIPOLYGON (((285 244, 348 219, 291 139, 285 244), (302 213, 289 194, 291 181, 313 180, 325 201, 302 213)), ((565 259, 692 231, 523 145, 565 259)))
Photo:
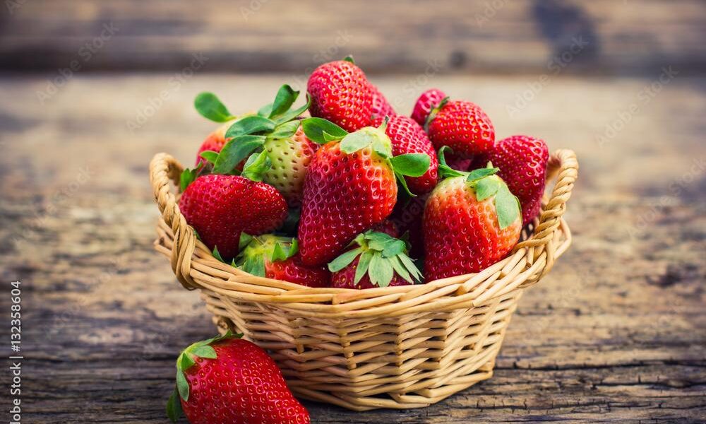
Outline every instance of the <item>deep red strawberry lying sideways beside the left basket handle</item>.
POLYGON ((279 227, 287 201, 275 187, 237 175, 202 175, 179 199, 179 210, 209 249, 229 261, 241 232, 258 235, 279 227))

